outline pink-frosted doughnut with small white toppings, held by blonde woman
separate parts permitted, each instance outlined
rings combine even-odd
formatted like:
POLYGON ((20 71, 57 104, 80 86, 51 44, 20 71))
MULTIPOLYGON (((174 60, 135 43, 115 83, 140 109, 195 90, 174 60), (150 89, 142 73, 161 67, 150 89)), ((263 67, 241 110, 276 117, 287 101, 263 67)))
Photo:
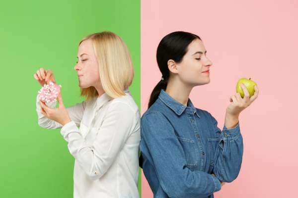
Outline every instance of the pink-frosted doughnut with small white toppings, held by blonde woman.
POLYGON ((57 85, 53 82, 45 84, 40 91, 38 91, 38 98, 43 102, 55 102, 60 93, 61 85, 57 85))

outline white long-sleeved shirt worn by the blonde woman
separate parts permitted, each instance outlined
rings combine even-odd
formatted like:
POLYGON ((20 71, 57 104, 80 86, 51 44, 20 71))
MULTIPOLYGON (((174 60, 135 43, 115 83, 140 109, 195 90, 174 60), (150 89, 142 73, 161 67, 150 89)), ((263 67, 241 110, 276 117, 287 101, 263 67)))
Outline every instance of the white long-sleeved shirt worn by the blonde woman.
POLYGON ((139 198, 140 112, 128 89, 125 93, 67 107, 72 121, 63 127, 41 113, 36 98, 39 126, 61 128, 74 156, 74 198, 139 198))

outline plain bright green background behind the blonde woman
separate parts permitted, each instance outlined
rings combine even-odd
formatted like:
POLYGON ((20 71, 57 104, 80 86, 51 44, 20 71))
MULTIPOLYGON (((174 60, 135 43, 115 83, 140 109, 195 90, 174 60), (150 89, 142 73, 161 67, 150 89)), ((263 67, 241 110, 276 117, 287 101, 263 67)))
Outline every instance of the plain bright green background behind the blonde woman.
POLYGON ((38 125, 33 74, 51 69, 65 106, 83 101, 74 70, 78 42, 112 31, 130 49, 130 91, 140 108, 140 0, 1 1, 0 29, 0 197, 71 198, 74 158, 60 129, 38 125))

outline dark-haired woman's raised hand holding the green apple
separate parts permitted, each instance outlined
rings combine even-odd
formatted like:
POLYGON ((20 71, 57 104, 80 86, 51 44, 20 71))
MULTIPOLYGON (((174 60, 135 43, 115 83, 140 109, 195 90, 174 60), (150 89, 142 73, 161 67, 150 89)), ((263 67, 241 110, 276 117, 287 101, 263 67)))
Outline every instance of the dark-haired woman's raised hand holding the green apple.
POLYGON ((257 86, 254 87, 255 92, 250 98, 247 88, 243 84, 241 84, 241 87, 244 92, 243 99, 241 98, 239 93, 236 93, 235 95, 230 97, 231 103, 228 105, 226 110, 226 112, 230 115, 239 115, 242 110, 248 107, 258 97, 259 89, 257 86))

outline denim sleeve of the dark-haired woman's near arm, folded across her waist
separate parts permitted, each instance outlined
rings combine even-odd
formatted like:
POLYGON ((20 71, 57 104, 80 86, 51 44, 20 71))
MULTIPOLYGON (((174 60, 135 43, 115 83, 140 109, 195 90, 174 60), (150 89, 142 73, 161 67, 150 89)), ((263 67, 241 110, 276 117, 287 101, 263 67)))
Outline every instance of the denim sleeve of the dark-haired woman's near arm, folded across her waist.
POLYGON ((171 198, 206 198, 221 190, 218 178, 203 171, 190 171, 174 129, 160 112, 141 120, 141 137, 149 148, 152 165, 163 191, 171 198))

